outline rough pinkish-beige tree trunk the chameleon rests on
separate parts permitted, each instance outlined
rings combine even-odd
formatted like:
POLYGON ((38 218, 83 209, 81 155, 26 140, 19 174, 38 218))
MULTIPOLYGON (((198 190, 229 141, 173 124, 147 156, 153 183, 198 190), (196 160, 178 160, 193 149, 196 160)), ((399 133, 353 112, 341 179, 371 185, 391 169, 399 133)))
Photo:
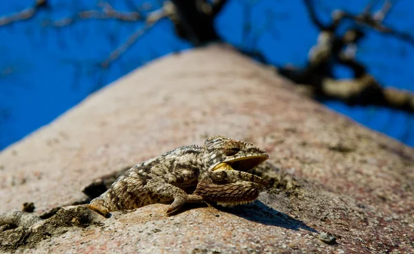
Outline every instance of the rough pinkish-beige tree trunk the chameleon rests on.
POLYGON ((213 134, 264 147, 270 163, 257 173, 273 187, 254 204, 193 204, 170 218, 165 204, 97 223, 85 211, 72 220, 70 210, 59 211, 34 233, 0 232, 0 251, 413 253, 414 150, 287 83, 213 45, 101 89, 1 152, 1 213, 24 202, 34 202, 36 214, 86 202, 82 190, 93 193, 97 179, 107 185, 111 173, 213 134))

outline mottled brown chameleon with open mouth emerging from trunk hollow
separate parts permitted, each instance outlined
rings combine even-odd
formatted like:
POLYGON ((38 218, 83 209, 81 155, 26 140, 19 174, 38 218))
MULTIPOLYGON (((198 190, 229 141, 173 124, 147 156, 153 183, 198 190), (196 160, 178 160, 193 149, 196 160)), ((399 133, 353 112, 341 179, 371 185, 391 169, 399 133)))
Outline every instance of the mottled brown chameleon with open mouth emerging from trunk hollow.
POLYGON ((202 147, 178 147, 135 165, 87 207, 106 215, 171 203, 166 211, 170 214, 186 202, 253 202, 268 182, 247 171, 267 159, 266 151, 253 144, 212 136, 202 147))

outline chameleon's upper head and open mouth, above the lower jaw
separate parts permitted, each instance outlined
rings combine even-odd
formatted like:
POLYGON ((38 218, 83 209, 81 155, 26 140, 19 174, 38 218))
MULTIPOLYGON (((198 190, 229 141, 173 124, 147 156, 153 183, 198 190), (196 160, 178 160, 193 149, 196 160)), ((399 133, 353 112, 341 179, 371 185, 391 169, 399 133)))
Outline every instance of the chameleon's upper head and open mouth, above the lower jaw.
POLYGON ((204 142, 204 163, 208 171, 249 171, 269 158, 266 151, 248 142, 212 136, 204 142))

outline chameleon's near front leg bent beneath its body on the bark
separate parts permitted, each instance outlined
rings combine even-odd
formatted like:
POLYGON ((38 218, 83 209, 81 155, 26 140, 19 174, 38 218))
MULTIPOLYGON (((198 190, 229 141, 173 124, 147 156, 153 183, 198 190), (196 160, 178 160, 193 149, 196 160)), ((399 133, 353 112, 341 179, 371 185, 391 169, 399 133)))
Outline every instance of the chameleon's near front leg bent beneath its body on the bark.
POLYGON ((187 194, 184 190, 179 189, 179 187, 175 187, 166 182, 152 180, 147 182, 146 188, 152 193, 155 193, 160 202, 173 200, 166 210, 167 215, 177 211, 186 202, 199 203, 204 201, 201 195, 187 194))

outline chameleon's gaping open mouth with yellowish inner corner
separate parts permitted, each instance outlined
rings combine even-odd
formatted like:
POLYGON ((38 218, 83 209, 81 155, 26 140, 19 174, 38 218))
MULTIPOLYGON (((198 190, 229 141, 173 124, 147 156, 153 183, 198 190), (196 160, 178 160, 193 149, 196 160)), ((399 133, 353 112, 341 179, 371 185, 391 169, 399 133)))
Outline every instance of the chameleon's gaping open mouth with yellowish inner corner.
POLYGON ((268 156, 250 156, 217 164, 211 171, 237 170, 247 172, 268 159, 268 156))

